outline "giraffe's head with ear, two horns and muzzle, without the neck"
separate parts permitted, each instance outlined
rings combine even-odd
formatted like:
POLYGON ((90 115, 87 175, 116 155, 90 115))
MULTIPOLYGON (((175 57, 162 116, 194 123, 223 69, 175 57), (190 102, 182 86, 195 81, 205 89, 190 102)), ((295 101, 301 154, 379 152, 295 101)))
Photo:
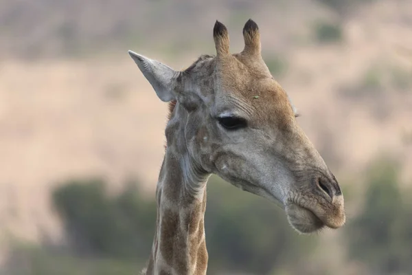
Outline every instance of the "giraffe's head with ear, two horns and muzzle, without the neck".
POLYGON ((227 28, 216 21, 216 56, 182 72, 129 51, 157 96, 176 102, 183 126, 168 146, 180 142, 205 173, 276 201, 298 232, 341 227, 341 188, 264 63, 258 25, 247 21, 243 36, 244 50, 230 54, 227 28))

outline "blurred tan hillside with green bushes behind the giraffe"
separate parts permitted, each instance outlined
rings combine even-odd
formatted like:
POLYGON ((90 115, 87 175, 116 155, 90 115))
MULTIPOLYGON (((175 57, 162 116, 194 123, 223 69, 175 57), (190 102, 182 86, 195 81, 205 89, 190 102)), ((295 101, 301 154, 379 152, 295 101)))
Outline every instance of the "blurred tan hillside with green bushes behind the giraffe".
POLYGON ((0 0, 0 274, 138 274, 167 105, 127 54, 188 67, 260 26, 262 55, 343 186, 347 224, 301 236, 208 184, 208 274, 412 274, 412 1, 0 0))

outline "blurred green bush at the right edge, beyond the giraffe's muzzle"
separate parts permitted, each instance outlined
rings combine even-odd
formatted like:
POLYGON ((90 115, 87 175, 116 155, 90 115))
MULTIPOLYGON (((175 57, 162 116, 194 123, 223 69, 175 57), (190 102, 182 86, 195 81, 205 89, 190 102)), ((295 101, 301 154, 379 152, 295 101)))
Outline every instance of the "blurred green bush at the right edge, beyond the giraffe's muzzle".
POLYGON ((347 226, 350 257, 371 274, 412 274, 411 196, 399 189, 398 166, 378 159, 368 173, 365 208, 347 226))

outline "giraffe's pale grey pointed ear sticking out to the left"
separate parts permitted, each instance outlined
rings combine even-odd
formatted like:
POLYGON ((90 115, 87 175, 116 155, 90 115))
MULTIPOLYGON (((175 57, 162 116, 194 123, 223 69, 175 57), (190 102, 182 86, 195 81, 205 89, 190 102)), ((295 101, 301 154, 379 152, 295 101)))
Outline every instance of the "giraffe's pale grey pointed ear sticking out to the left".
POLYGON ((169 102, 176 99, 174 94, 174 76, 177 72, 159 61, 152 60, 133 51, 128 51, 137 67, 155 89, 161 101, 169 102))

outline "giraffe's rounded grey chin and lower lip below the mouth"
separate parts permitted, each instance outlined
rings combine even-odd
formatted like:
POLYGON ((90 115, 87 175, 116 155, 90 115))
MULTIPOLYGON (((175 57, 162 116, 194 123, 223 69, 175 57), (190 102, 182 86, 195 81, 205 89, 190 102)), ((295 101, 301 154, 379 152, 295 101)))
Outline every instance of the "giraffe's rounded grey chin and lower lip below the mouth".
POLYGON ((285 208, 289 224, 301 234, 309 234, 321 230, 326 225, 308 208, 289 204, 285 208))

